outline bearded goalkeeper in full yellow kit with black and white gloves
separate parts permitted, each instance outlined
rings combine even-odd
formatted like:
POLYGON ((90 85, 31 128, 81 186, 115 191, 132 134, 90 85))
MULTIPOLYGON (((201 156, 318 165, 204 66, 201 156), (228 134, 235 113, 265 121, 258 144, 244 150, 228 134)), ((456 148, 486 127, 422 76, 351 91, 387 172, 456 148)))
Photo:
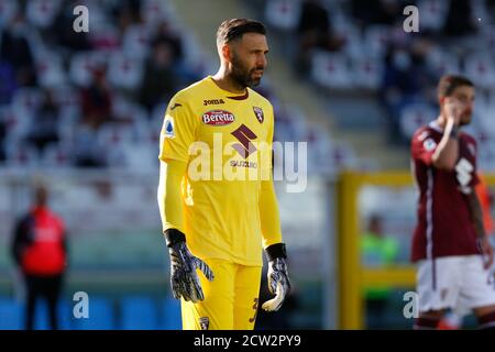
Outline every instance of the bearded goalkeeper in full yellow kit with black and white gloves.
POLYGON ((161 133, 158 205, 184 329, 254 328, 268 260, 278 310, 290 290, 272 179, 273 107, 252 90, 266 67, 265 28, 217 32, 220 68, 176 94, 161 133), (218 162, 221 165, 218 165, 218 162))

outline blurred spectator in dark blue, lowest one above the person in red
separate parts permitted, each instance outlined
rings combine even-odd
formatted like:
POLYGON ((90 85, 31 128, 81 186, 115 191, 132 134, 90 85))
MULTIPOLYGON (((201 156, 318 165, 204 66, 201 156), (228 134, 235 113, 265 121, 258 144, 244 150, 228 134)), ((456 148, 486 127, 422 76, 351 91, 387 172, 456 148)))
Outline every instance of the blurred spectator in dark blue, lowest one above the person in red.
POLYGON ((30 127, 28 142, 33 144, 40 153, 50 144, 57 143, 59 108, 55 102, 52 90, 43 91, 43 102, 34 116, 34 123, 30 127))

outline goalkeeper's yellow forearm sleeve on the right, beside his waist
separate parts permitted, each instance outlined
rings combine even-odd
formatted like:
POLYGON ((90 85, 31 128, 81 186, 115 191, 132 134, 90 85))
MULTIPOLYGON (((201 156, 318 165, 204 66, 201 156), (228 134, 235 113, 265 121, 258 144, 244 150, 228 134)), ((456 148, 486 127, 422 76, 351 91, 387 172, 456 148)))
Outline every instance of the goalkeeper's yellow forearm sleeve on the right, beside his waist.
POLYGON ((261 183, 260 220, 263 234, 263 248, 282 242, 280 218, 273 180, 261 183))

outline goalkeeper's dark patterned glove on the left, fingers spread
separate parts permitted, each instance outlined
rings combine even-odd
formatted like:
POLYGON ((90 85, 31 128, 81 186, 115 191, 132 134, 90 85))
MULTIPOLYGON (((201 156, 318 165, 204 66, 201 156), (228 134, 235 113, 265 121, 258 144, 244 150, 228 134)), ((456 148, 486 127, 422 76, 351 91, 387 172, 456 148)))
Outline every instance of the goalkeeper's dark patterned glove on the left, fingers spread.
POLYGON ((170 286, 174 297, 197 302, 205 299, 196 270, 206 278, 213 279, 213 272, 200 258, 194 256, 186 245, 186 237, 179 230, 165 231, 165 240, 170 254, 170 286))

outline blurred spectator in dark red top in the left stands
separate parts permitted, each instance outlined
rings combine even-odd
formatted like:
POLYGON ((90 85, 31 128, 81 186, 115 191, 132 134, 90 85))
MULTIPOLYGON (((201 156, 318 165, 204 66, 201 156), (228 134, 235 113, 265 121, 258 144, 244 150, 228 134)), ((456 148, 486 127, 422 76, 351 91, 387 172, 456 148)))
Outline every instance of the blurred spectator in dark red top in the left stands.
POLYGON ((88 88, 82 89, 81 96, 85 124, 97 131, 112 120, 112 92, 103 67, 95 68, 94 80, 88 88))

